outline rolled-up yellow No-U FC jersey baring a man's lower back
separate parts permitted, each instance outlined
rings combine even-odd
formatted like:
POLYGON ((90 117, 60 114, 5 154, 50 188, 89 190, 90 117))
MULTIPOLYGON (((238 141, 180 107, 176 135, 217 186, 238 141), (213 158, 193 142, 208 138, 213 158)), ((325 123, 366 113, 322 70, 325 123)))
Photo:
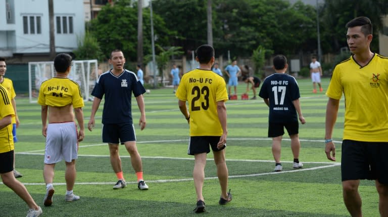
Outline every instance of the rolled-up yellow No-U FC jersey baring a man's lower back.
POLYGON ((84 106, 78 83, 69 78, 57 77, 42 82, 38 103, 54 107, 62 107, 69 104, 73 104, 74 108, 84 106))

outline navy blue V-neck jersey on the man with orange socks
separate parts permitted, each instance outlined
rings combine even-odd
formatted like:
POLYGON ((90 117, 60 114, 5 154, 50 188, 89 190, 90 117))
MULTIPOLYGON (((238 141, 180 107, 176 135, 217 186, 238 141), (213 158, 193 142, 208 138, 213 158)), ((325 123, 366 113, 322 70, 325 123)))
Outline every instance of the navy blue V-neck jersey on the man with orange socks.
POLYGON ((94 86, 91 95, 99 99, 104 97, 102 123, 132 123, 131 96, 146 93, 134 72, 124 69, 119 76, 110 70, 103 73, 94 86))

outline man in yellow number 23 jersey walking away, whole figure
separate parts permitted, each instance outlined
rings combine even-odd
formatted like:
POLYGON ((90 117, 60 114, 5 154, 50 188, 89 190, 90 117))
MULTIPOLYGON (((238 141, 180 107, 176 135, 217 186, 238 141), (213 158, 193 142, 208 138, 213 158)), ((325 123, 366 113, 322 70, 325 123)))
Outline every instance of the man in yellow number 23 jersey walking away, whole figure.
POLYGON ((182 76, 176 92, 179 109, 190 125, 189 155, 194 155, 195 163, 192 172, 197 193, 196 212, 205 211, 202 188, 205 179, 206 155, 213 150, 217 176, 221 186, 220 205, 232 200, 227 193, 228 168, 225 163, 225 147, 228 130, 226 127, 226 106, 228 100, 225 80, 214 73, 214 49, 210 45, 202 45, 196 51, 198 69, 189 71, 182 76), (188 101, 189 110, 186 108, 188 101), (210 145, 210 147, 209 147, 210 145))

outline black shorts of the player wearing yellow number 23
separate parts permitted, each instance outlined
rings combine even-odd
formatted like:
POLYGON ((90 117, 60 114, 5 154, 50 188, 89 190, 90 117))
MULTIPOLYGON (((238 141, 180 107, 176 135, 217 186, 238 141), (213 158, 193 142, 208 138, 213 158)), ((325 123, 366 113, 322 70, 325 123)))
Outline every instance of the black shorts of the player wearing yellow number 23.
POLYGON ((209 153, 210 147, 212 147, 213 151, 221 151, 226 147, 226 143, 224 147, 221 149, 217 148, 217 144, 220 141, 219 136, 199 136, 199 137, 190 137, 188 141, 188 150, 187 154, 195 155, 201 153, 209 153), (210 145, 210 147, 209 147, 210 145))

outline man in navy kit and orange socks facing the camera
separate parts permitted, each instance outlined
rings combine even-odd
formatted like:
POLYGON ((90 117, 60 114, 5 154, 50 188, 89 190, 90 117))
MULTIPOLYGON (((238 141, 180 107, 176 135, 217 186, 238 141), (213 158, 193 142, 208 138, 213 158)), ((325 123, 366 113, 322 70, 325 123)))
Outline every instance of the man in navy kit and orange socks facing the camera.
POLYGON ((143 180, 142 162, 136 147, 131 111, 131 97, 133 94, 141 113, 140 129, 143 130, 146 127, 146 110, 144 109, 142 94, 146 93, 146 90, 134 72, 124 69, 125 58, 122 51, 112 51, 109 63, 113 65, 113 69, 100 76, 91 93, 94 100, 87 127, 89 131, 92 131, 95 124, 95 113, 104 97, 103 142, 108 143, 112 168, 118 179, 113 189, 126 187, 119 155, 119 144, 121 143, 131 156, 132 167, 137 176, 138 189, 148 190, 148 186, 143 180))

